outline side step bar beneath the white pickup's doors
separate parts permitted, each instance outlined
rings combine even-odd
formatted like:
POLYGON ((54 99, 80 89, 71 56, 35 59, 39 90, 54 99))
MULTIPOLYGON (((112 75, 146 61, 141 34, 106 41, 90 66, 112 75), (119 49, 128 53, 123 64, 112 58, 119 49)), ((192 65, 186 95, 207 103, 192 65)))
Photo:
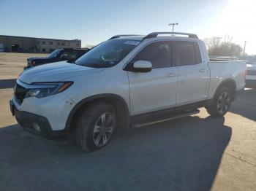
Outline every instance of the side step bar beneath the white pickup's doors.
POLYGON ((186 117, 186 116, 189 116, 189 115, 192 115, 192 114, 198 114, 200 111, 198 109, 193 109, 193 110, 189 110, 189 111, 186 111, 186 112, 179 112, 178 114, 172 114, 170 117, 167 117, 167 118, 159 118, 157 120, 154 120, 154 121, 148 121, 148 122, 141 122, 141 123, 135 123, 135 124, 132 124, 131 127, 132 128, 140 128, 140 127, 143 127, 143 126, 146 126, 146 125, 153 125, 153 124, 156 124, 156 123, 159 123, 159 122, 166 122, 166 121, 170 121, 170 120, 176 120, 178 118, 181 118, 181 117, 186 117))

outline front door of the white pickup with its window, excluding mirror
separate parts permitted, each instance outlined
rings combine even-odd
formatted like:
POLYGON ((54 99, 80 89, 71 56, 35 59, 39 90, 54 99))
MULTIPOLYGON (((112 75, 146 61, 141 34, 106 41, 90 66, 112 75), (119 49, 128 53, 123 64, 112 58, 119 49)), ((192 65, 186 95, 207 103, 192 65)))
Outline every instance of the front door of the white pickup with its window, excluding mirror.
POLYGON ((171 49, 168 41, 152 42, 129 63, 152 63, 149 72, 128 71, 132 115, 176 106, 177 70, 171 66, 171 49))

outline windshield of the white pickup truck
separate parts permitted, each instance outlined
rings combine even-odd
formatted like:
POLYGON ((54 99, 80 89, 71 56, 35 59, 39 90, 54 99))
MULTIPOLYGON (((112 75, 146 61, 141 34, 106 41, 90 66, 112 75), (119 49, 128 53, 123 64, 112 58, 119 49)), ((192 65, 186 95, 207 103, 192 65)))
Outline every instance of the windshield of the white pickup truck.
POLYGON ((87 52, 76 64, 93 68, 107 68, 115 66, 129 54, 140 41, 127 39, 112 39, 87 52))

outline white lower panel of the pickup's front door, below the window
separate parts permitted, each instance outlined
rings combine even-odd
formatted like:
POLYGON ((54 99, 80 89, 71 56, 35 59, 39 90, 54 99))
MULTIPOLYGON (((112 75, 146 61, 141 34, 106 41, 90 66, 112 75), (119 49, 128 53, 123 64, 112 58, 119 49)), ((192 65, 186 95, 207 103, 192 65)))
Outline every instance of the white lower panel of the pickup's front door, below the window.
POLYGON ((176 67, 128 72, 131 114, 154 112, 176 106, 176 67))

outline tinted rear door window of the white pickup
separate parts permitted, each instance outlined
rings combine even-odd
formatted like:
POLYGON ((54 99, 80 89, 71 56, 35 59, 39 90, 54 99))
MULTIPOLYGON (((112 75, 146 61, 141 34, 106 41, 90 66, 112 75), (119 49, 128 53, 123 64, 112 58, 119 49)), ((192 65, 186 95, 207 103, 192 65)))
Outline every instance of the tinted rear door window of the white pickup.
POLYGON ((189 66, 202 62, 197 42, 175 42, 174 61, 176 66, 189 66))

